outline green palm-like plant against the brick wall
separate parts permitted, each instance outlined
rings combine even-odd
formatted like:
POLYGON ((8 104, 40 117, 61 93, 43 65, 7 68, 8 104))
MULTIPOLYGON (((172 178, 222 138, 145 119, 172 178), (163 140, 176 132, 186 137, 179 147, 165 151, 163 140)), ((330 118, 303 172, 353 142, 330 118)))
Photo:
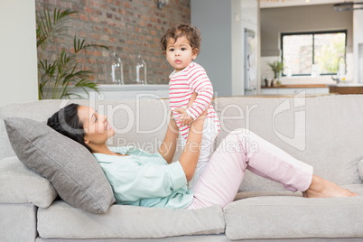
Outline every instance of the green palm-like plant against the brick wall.
POLYGON ((107 46, 99 44, 88 44, 85 40, 79 40, 76 35, 73 37, 74 51, 58 51, 54 61, 43 60, 43 53, 49 44, 55 44, 60 41, 67 42, 71 36, 67 34, 70 26, 70 15, 77 14, 77 11, 66 9, 61 11, 56 8, 51 12, 48 7, 36 14, 36 37, 38 56, 38 88, 39 99, 48 98, 51 94, 52 99, 70 98, 71 95, 81 98, 80 95, 72 92, 74 88, 82 88, 88 95, 88 89, 98 92, 96 83, 90 80, 93 75, 91 70, 79 70, 77 56, 88 48, 103 48, 107 46), (47 96, 44 89, 49 93, 47 96))

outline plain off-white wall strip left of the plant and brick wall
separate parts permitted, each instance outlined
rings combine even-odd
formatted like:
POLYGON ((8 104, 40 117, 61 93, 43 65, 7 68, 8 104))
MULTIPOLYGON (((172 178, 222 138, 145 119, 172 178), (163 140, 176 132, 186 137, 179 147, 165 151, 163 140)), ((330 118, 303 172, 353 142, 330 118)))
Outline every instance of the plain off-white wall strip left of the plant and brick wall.
POLYGON ((0 107, 38 100, 35 0, 0 1, 0 107))

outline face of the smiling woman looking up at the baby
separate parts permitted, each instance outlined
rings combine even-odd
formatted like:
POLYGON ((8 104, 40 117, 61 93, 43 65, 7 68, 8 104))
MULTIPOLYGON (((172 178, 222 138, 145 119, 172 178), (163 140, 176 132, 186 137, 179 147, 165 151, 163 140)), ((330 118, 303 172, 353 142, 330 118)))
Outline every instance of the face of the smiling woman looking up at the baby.
POLYGON ((107 116, 99 115, 98 112, 87 106, 79 106, 79 121, 83 123, 86 132, 85 143, 105 144, 107 139, 115 135, 115 130, 109 125, 107 116))

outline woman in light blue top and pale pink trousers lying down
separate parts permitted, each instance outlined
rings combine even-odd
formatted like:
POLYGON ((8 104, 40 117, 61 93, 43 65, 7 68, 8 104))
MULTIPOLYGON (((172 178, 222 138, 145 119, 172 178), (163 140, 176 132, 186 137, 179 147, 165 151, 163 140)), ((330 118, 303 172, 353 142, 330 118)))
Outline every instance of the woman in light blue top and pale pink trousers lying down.
POLYGON ((205 115, 191 124, 181 158, 175 163, 172 158, 179 132, 172 117, 157 154, 132 147, 107 147, 107 139, 115 131, 107 116, 91 107, 70 104, 51 116, 48 125, 94 154, 119 204, 172 209, 219 204, 224 208, 234 200, 246 169, 282 183, 287 190, 302 191, 306 198, 357 196, 313 175, 312 166, 244 129, 235 130, 224 139, 193 190, 188 190, 187 182, 191 181, 200 154, 205 115))

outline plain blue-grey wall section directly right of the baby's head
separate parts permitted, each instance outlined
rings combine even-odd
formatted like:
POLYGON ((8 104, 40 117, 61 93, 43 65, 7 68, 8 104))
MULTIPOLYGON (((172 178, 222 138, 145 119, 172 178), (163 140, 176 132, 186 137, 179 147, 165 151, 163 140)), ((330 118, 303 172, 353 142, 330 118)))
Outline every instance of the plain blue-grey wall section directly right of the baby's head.
POLYGON ((231 0, 191 0, 191 23, 200 29, 200 54, 214 97, 232 95, 231 0))

